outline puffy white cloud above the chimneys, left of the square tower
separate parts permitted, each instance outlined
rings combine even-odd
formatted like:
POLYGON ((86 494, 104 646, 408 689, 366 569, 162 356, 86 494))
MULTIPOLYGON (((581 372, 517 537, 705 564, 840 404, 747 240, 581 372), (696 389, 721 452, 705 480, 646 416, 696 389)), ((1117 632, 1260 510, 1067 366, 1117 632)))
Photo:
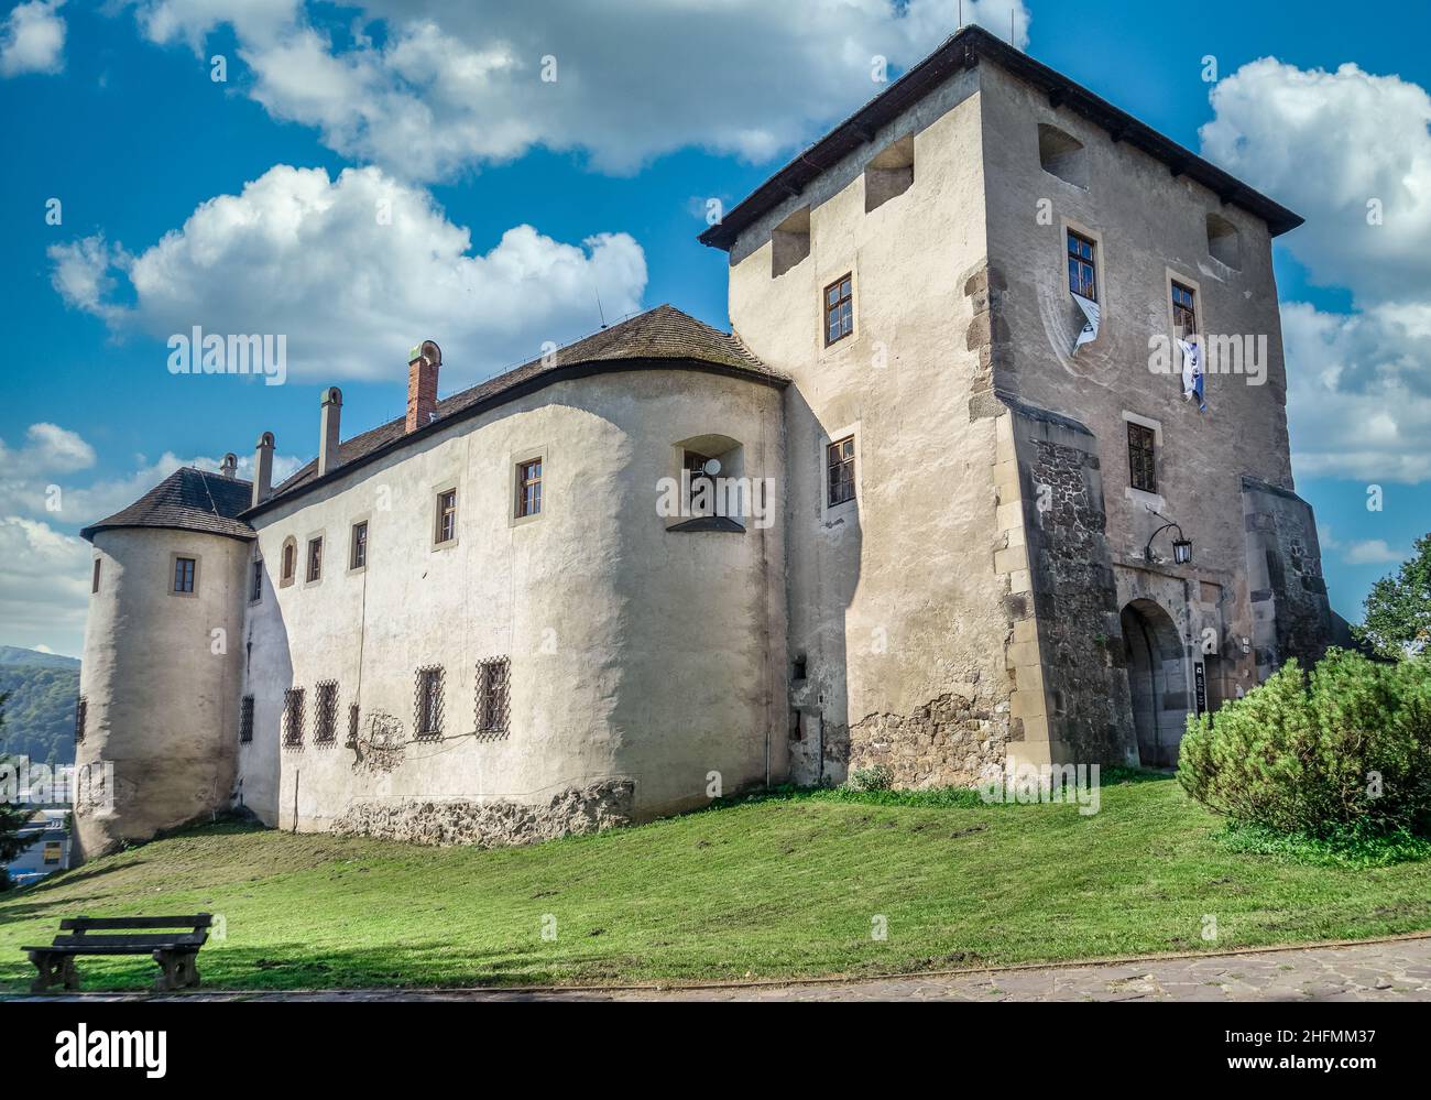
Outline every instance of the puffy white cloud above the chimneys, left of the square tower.
POLYGON ((119 332, 285 335, 289 375, 318 381, 405 378, 408 349, 431 337, 446 387, 594 331, 598 294, 608 318, 637 309, 647 278, 627 233, 571 245, 518 225, 475 254, 426 190, 376 168, 331 180, 278 165, 135 256, 89 238, 50 258, 64 299, 119 332), (90 294, 117 278, 133 305, 90 294))

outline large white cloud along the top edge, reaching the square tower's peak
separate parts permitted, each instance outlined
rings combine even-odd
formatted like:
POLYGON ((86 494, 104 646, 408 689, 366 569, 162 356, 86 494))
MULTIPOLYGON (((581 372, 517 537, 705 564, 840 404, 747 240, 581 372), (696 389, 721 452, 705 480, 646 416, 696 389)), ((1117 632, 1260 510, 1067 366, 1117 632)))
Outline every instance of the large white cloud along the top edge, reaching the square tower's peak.
MULTIPOLYGON (((1002 37, 1012 17, 1027 43, 1022 0, 963 9, 1002 37)), ((687 146, 767 160, 881 90, 876 56, 907 67, 959 21, 957 0, 368 0, 359 10, 346 34, 286 0, 157 0, 139 20, 150 40, 195 50, 230 24, 249 95, 270 115, 414 180, 532 146, 581 150, 608 172, 687 146), (555 80, 542 79, 547 57, 555 80)))

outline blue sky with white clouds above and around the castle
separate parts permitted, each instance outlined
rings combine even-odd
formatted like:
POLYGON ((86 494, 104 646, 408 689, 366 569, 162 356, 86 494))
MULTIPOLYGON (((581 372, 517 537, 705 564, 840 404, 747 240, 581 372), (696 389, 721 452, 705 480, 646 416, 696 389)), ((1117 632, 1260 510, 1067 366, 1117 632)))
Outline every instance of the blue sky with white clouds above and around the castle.
MULTIPOLYGON (((705 199, 748 193, 877 90, 871 54, 900 72, 957 7, 0 7, 0 643, 77 653, 84 521, 179 463, 246 460, 260 430, 306 460, 325 384, 345 434, 395 415, 421 338, 444 344, 446 392, 597 328, 598 295, 608 321, 668 301, 728 328, 705 199), (169 374, 189 317, 292 332, 289 381, 169 374)), ((1030 54, 1308 218, 1276 246, 1294 468, 1358 617, 1431 527, 1431 13, 963 7, 1003 36, 1012 11, 1030 54)))

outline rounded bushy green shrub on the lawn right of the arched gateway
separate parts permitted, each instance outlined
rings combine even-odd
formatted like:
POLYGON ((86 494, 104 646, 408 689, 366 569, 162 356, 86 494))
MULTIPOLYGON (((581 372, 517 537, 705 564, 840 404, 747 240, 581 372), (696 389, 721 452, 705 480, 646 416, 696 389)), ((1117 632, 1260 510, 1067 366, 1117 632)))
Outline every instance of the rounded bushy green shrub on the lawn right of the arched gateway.
POLYGON ((1178 782, 1234 821, 1328 836, 1431 835, 1431 665, 1329 650, 1188 718, 1178 782))

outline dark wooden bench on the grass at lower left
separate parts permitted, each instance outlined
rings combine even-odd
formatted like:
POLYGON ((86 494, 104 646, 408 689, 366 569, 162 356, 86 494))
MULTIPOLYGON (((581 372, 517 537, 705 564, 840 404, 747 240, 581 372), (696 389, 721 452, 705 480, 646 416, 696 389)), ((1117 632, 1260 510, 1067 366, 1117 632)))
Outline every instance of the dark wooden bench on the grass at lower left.
POLYGON ((49 947, 20 948, 30 952, 30 961, 40 971, 30 990, 44 993, 54 981, 63 981, 66 990, 77 990, 77 955, 153 955, 160 970, 155 980, 156 990, 195 987, 199 984, 195 958, 209 938, 212 922, 213 917, 207 912, 193 917, 73 917, 60 921, 60 935, 49 947), (170 931, 136 932, 136 928, 170 931))

